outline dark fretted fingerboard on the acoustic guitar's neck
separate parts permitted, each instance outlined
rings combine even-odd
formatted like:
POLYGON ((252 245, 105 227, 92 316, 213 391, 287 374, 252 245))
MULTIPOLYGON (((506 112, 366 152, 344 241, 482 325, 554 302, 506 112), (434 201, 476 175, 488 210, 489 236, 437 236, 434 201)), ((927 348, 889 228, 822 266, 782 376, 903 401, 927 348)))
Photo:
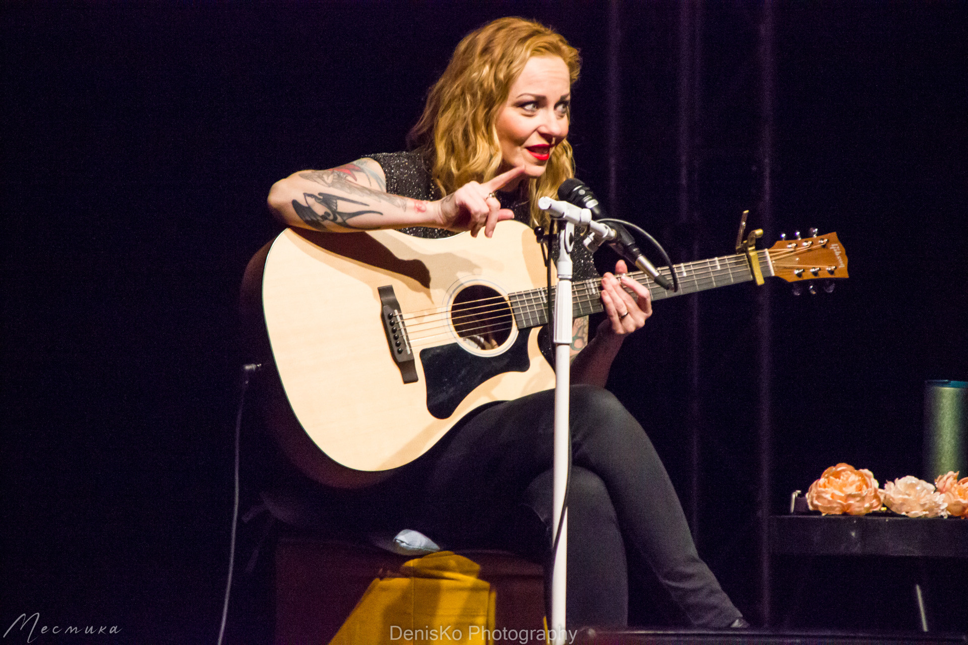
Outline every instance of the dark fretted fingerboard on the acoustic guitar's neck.
MULTIPOLYGON (((770 251, 767 249, 758 250, 756 251, 756 255, 759 259, 763 276, 771 277, 773 270, 770 262, 770 251)), ((711 257, 706 260, 676 264, 673 267, 676 270, 676 277, 679 278, 679 291, 663 289, 641 271, 630 272, 628 277, 645 285, 651 293, 652 300, 683 296, 689 293, 697 293, 699 291, 706 291, 707 289, 727 286, 729 284, 748 282, 753 279, 746 256, 742 254, 711 257)), ((672 281, 669 267, 660 267, 658 271, 672 281)), ((548 289, 543 287, 510 294, 514 321, 519 328, 528 329, 529 327, 537 327, 548 323, 547 291, 548 289)), ((602 302, 598 295, 600 291, 601 280, 597 278, 575 280, 572 282, 571 292, 574 303, 572 315, 578 318, 601 311, 602 302)), ((555 287, 552 287, 553 303, 554 297, 555 287)))

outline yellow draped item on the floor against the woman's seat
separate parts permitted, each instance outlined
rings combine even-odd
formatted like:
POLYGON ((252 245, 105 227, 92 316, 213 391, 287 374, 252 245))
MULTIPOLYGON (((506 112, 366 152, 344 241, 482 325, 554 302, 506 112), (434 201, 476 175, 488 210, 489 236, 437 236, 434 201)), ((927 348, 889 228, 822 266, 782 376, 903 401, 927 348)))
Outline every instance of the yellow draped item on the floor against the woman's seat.
POLYGON ((376 578, 329 645, 492 645, 495 593, 480 566, 450 551, 376 578))

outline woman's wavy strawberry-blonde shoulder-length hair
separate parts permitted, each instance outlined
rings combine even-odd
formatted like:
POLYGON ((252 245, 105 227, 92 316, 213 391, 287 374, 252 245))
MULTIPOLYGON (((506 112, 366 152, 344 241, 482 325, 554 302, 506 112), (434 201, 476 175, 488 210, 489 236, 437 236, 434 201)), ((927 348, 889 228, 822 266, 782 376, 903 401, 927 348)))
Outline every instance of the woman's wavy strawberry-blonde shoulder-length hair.
MULTIPOLYGON (((447 69, 427 96, 423 115, 410 130, 408 146, 429 161, 442 194, 469 181, 498 174, 500 144, 495 123, 512 83, 531 56, 559 56, 571 82, 578 79, 578 49, 557 32, 520 17, 503 17, 470 32, 457 45, 447 69)), ((561 182, 575 174, 571 145, 561 141, 544 173, 528 182, 531 223, 547 220, 538 198, 555 197, 561 182)))

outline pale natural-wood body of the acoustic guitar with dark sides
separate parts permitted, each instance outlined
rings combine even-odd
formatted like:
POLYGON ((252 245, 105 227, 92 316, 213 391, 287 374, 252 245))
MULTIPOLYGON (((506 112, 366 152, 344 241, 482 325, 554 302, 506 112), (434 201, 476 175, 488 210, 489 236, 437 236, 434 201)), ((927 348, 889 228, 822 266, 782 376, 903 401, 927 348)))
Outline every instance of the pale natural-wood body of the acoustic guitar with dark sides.
POLYGON ((268 423, 284 452, 323 484, 371 484, 427 452, 470 410, 554 387, 537 329, 507 316, 509 329, 482 346, 460 336, 454 314, 469 295, 471 306, 500 302, 544 282, 541 249, 516 221, 501 222, 491 239, 287 229, 257 253, 243 284, 267 340, 258 344, 278 372, 268 423), (405 383, 394 360, 380 287, 392 287, 402 314, 418 314, 407 338, 415 382, 405 383))

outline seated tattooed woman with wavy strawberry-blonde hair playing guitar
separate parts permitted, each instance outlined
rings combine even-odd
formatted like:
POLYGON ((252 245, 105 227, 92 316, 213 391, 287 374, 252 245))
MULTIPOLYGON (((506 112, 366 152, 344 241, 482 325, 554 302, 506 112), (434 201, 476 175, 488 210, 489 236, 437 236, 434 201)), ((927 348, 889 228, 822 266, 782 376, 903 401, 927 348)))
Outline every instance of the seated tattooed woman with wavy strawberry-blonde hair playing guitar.
MULTIPOLYGON (((269 206, 287 225, 334 233, 483 230, 490 238, 502 220, 542 223, 537 199, 554 196, 573 173, 566 136, 578 72, 578 51, 559 34, 521 18, 495 20, 458 44, 410 132, 411 152, 297 172, 272 187, 269 206)), ((575 279, 597 276, 585 249, 573 261, 575 279)), ((625 272, 620 261, 601 279, 606 318, 594 337, 588 318, 574 325, 568 623, 624 626, 628 576, 650 568, 694 626, 743 627, 697 555, 645 431, 602 389, 623 340, 651 315, 648 289, 625 272)), ((547 552, 552 400, 545 392, 477 411, 366 494, 392 500, 387 513, 398 528, 450 547, 547 552)))

